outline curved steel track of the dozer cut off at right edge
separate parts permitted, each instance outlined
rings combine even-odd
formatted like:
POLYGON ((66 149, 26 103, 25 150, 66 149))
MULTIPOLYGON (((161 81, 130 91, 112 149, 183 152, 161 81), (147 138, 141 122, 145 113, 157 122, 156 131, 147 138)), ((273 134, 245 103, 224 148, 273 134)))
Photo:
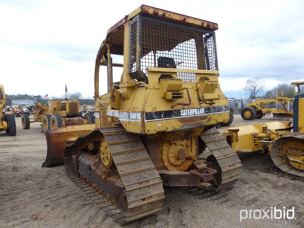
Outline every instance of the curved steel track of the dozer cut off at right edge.
POLYGON ((282 145, 284 141, 287 142, 289 140, 302 141, 304 144, 304 133, 290 133, 281 136, 278 138, 278 140, 275 140, 271 146, 271 159, 275 166, 281 169, 283 172, 304 177, 304 171, 294 168, 291 164, 289 164, 288 161, 285 160, 284 157, 282 157, 282 154, 279 151, 280 145, 282 145))

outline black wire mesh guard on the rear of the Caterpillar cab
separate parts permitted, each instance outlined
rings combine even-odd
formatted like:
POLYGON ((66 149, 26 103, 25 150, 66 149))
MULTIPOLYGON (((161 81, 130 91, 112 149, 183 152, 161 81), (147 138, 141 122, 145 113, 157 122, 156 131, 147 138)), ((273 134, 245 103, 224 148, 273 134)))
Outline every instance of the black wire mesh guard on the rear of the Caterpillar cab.
MULTIPOLYGON (((213 31, 142 15, 131 21, 129 53, 131 77, 146 77, 147 67, 218 70, 213 31)), ((178 78, 195 81, 195 73, 178 72, 178 78)))

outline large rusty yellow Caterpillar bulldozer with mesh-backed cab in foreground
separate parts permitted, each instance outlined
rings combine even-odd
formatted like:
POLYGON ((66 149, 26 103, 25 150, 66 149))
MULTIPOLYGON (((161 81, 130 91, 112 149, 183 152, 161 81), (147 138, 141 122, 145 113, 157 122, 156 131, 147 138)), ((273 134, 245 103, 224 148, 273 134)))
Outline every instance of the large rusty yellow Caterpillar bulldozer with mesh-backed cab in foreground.
POLYGON ((62 138, 82 126, 46 132, 48 153, 64 150, 68 177, 120 224, 161 210, 163 185, 220 190, 240 178, 237 154, 214 127, 230 116, 218 81, 217 29, 140 6, 108 30, 98 50, 95 129, 68 140, 65 149, 62 138), (112 55, 123 63, 112 63, 112 55), (100 66, 108 72, 104 95, 100 66), (119 82, 113 83, 112 67, 123 67, 119 82))

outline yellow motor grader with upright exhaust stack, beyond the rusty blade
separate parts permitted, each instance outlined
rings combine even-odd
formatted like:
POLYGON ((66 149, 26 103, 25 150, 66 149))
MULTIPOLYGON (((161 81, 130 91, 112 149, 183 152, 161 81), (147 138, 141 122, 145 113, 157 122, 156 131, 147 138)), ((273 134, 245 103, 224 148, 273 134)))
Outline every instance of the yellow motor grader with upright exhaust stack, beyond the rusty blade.
POLYGON ((23 129, 29 129, 30 123, 41 122, 42 130, 54 130, 67 125, 92 124, 95 123, 95 116, 92 113, 86 113, 80 117, 79 101, 77 99, 56 98, 48 102, 48 105, 35 103, 34 117, 29 118, 27 114, 21 116, 23 129))

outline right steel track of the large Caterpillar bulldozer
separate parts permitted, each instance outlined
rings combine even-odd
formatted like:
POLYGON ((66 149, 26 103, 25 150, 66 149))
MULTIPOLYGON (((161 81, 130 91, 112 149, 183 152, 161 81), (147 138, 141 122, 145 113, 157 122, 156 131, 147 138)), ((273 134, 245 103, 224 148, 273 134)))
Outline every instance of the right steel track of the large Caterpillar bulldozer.
POLYGON ((235 151, 215 127, 202 133, 200 137, 221 169, 221 180, 215 190, 233 185, 241 177, 243 166, 235 151))

